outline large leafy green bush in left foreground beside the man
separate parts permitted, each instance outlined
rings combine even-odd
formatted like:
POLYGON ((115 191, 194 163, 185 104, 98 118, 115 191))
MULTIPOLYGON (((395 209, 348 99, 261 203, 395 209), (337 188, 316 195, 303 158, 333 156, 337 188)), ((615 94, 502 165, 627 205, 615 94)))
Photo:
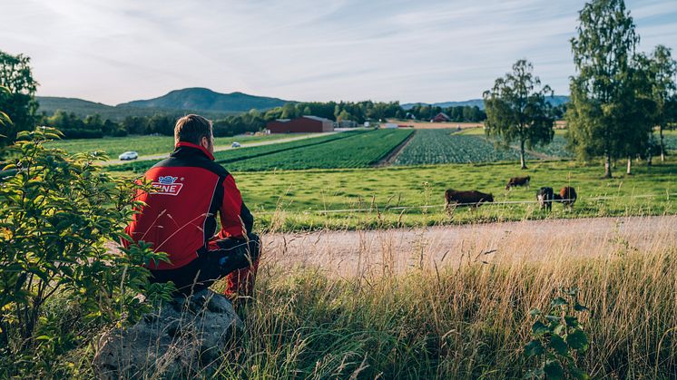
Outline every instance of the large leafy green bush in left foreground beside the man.
POLYGON ((133 191, 94 165, 100 153, 46 149, 60 132, 20 132, 0 181, 0 376, 67 375, 56 366, 90 342, 86 331, 123 326, 168 298, 172 286, 150 284, 142 267, 166 260, 129 239, 133 191), (62 371, 62 372, 58 372, 62 371))

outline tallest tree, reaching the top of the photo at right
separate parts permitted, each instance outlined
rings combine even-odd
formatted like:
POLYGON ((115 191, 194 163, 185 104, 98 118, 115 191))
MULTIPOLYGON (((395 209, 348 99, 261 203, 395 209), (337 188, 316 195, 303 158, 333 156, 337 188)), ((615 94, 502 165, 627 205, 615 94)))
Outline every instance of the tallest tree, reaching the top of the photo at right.
POLYGON ((578 75, 570 83, 567 137, 579 158, 603 156, 604 178, 611 178, 612 160, 626 152, 633 136, 625 105, 633 102, 628 86, 639 36, 623 0, 593 0, 579 20, 578 36, 571 40, 578 75))

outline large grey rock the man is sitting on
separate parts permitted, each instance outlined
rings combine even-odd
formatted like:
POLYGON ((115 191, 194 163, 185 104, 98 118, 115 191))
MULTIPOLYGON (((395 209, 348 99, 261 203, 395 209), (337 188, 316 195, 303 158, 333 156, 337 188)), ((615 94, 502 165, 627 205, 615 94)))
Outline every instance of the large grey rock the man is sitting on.
POLYGON ((105 334, 93 366, 99 378, 185 377, 218 358, 241 328, 231 301, 205 289, 105 334))

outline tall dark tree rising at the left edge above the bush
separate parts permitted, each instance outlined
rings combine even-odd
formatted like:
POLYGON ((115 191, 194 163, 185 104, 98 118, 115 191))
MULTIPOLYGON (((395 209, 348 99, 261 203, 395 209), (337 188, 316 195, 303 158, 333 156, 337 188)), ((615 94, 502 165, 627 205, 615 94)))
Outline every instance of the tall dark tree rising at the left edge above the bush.
POLYGON ((1 133, 5 137, 0 138, 0 145, 15 141, 16 132, 34 127, 38 105, 34 95, 38 83, 33 79, 30 61, 24 54, 12 55, 0 51, 0 86, 7 89, 7 92, 0 92, 0 108, 12 120, 1 133))

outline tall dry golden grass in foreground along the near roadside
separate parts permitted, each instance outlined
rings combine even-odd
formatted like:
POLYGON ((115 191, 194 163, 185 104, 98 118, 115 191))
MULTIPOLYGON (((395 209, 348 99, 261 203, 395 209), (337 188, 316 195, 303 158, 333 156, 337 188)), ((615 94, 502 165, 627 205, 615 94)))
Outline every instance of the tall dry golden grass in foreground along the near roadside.
MULTIPOLYGON (((392 246, 379 251, 373 241, 362 241, 361 251, 345 258, 358 265, 341 276, 321 260, 289 268, 270 255, 255 298, 243 309, 244 335, 210 373, 522 377, 536 365, 523 355, 534 321, 529 310, 546 308, 561 287, 577 287, 580 302, 590 308, 578 317, 591 340, 590 349, 576 357, 579 367, 595 378, 675 378, 676 231, 663 223, 651 232, 652 223, 658 222, 644 219, 643 229, 611 228, 584 240, 542 237, 549 239, 545 244, 535 244, 538 236, 524 227, 493 240, 498 250, 489 254, 476 235, 477 249, 448 253, 446 265, 432 259, 439 254, 435 244, 418 247, 422 258, 408 257, 403 267, 392 246), (643 239, 636 231, 651 233, 643 239), (535 247, 537 259, 530 250, 535 247), (574 252, 581 247, 591 251, 574 252)), ((320 240, 316 248, 306 247, 309 257, 331 254, 322 251, 320 240)))

